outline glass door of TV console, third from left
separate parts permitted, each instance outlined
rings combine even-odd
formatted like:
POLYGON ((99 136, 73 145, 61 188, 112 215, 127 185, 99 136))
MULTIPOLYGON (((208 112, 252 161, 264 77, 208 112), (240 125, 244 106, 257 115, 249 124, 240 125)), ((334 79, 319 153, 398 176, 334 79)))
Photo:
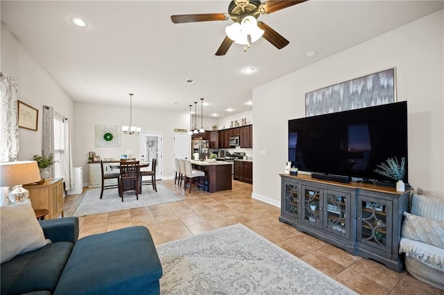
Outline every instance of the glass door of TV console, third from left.
POLYGON ((350 238, 350 194, 327 190, 325 202, 324 229, 343 238, 350 238))

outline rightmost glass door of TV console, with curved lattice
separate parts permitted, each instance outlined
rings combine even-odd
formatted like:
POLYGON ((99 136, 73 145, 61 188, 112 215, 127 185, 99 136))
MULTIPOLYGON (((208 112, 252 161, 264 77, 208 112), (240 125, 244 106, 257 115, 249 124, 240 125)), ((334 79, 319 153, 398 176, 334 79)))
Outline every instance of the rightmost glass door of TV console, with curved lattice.
POLYGON ((358 195, 357 240, 387 251, 391 247, 391 204, 358 195))

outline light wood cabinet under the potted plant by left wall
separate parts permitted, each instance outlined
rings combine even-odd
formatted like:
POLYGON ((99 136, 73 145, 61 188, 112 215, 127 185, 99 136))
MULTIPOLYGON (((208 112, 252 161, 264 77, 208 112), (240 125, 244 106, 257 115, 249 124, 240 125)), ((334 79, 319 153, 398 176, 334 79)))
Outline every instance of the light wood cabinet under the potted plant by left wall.
POLYGON ((53 219, 58 215, 63 217, 63 179, 46 180, 43 184, 24 186, 29 190, 29 199, 34 209, 48 209, 44 218, 53 219))

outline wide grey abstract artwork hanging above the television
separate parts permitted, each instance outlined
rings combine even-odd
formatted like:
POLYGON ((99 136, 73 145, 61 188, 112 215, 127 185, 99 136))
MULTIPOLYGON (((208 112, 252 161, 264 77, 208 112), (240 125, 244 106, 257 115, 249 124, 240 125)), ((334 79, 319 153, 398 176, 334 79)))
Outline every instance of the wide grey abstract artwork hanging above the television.
POLYGON ((305 93, 305 116, 373 107, 396 101, 395 68, 305 93))

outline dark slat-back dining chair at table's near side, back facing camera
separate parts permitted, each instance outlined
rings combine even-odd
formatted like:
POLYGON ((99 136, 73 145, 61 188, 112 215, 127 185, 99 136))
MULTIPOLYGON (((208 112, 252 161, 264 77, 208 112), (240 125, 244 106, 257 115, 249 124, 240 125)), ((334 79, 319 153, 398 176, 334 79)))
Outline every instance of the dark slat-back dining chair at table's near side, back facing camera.
POLYGON ((119 196, 123 202, 123 193, 134 191, 139 199, 140 168, 139 161, 120 161, 120 188, 119 196))

